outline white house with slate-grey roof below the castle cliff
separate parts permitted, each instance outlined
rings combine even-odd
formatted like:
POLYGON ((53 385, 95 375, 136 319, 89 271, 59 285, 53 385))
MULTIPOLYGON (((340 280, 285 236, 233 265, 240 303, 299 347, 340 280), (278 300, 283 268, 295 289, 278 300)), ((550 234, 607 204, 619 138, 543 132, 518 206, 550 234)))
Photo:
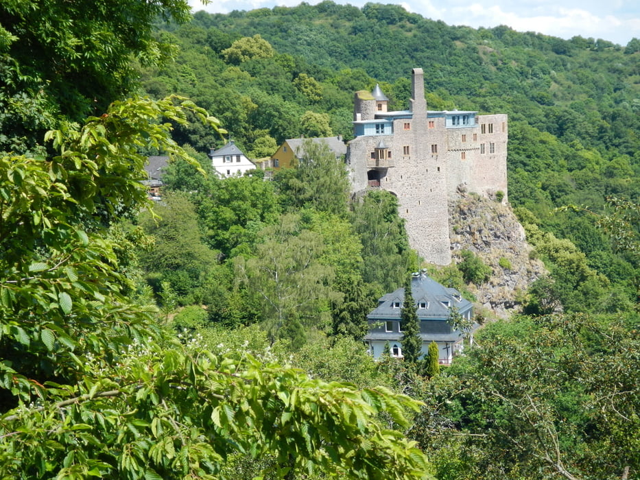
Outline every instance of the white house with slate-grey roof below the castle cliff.
MULTIPOLYGON (((427 355, 429 344, 438 344, 439 362, 449 365, 451 359, 462 351, 464 333, 454 330, 449 324, 451 309, 455 308, 466 320, 471 320, 473 306, 469 300, 462 298, 460 292, 447 288, 430 278, 424 272, 414 274, 411 290, 416 302, 416 311, 420 321, 420 337, 423 341, 422 353, 427 355)), ((401 310, 405 298, 405 289, 400 288, 387 293, 378 300, 378 306, 367 315, 369 333, 364 341, 375 358, 379 358, 389 344, 392 357, 402 357, 401 310)), ((473 330, 477 324, 473 325, 473 330)), ((470 337, 473 341, 473 336, 470 337)))

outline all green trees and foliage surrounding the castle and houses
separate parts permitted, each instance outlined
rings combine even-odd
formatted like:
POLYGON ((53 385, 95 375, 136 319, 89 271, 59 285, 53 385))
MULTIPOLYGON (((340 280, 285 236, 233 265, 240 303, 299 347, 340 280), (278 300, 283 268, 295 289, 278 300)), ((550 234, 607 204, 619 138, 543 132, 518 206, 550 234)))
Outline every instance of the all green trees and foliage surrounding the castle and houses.
POLYGON ((0 477, 640 475, 640 40, 84 3, 0 5, 0 477), (549 272, 447 368, 375 361, 366 314, 420 268, 470 300, 500 272, 420 264, 395 197, 351 198, 317 144, 272 180, 206 156, 348 140, 353 93, 404 109, 413 67, 430 109, 509 115, 510 204, 549 272))

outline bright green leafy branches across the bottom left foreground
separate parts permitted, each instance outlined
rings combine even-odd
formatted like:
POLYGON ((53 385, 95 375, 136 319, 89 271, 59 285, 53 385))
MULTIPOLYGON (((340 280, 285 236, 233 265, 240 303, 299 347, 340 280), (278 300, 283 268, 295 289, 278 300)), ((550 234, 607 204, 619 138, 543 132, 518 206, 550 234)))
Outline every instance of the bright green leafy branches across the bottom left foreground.
POLYGON ((385 406, 405 424, 401 412, 418 404, 382 387, 358 392, 248 355, 214 355, 193 339, 134 346, 117 368, 88 367, 93 376, 48 383, 40 407, 0 419, 3 477, 233 478, 221 472, 233 453, 273 453, 277 478, 425 477, 414 445, 373 421, 385 406))

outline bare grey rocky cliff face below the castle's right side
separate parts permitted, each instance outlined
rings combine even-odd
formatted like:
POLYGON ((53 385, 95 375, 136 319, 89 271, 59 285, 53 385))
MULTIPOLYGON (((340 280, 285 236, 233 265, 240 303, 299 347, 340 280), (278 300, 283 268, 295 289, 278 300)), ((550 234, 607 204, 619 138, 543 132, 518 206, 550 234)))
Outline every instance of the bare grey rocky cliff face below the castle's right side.
POLYGON ((543 263, 530 258, 532 246, 510 206, 478 195, 461 193, 449 203, 451 254, 471 250, 493 269, 487 283, 472 285, 477 302, 506 317, 519 310, 517 299, 546 273, 543 263))

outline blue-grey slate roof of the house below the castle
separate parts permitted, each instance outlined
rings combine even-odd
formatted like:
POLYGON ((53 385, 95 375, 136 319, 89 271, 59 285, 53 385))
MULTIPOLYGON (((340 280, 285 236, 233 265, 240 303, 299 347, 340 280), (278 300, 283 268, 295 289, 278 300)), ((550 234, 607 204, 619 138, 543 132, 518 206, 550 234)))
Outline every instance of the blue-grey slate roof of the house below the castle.
MULTIPOLYGON (((414 274, 411 280, 411 291, 416 305, 426 304, 427 308, 418 308, 419 320, 447 320, 451 307, 458 309, 461 315, 471 310, 471 302, 462 298, 460 292, 447 288, 430 278, 425 273, 414 274)), ((394 304, 405 299, 405 289, 399 288, 387 293, 378 300, 378 306, 367 315, 368 320, 398 320, 401 308, 394 304)))

